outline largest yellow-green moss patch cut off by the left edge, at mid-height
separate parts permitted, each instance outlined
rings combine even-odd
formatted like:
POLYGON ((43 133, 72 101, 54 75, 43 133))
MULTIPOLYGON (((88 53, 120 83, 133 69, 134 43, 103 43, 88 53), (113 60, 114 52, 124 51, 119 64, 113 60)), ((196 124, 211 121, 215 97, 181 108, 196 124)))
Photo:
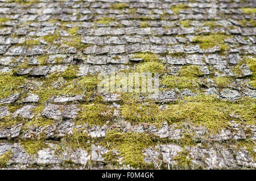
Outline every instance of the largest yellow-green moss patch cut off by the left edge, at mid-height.
POLYGON ((26 78, 17 77, 10 73, 0 73, 0 77, 0 99, 22 91, 19 87, 27 82, 26 78))

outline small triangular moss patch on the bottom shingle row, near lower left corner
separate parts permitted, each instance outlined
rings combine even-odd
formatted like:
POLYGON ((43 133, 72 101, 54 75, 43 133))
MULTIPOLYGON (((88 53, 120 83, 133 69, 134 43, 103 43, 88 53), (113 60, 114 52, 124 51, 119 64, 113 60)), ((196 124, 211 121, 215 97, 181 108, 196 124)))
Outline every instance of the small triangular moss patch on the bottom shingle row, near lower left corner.
POLYGON ((47 144, 45 144, 41 140, 35 141, 23 141, 20 143, 22 147, 26 150, 26 152, 30 155, 38 154, 39 150, 47 148, 47 144))

